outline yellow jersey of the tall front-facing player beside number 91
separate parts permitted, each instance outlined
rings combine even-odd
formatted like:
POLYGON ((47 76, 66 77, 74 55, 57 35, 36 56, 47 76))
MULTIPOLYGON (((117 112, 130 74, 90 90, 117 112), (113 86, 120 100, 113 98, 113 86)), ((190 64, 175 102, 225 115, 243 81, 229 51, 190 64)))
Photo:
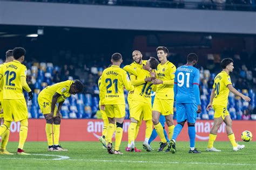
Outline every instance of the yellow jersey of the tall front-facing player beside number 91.
POLYGON ((174 100, 174 77, 176 67, 170 61, 157 66, 157 79, 163 80, 163 84, 158 84, 156 98, 174 100))

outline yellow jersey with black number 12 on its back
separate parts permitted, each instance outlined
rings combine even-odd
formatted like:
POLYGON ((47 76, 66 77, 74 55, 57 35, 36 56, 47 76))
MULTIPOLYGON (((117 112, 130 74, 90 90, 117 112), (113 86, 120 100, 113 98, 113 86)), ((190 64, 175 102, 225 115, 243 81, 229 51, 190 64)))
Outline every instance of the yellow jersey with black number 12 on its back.
POLYGON ((26 66, 14 60, 2 65, 0 69, 3 83, 3 99, 23 99, 21 76, 26 77, 26 66))

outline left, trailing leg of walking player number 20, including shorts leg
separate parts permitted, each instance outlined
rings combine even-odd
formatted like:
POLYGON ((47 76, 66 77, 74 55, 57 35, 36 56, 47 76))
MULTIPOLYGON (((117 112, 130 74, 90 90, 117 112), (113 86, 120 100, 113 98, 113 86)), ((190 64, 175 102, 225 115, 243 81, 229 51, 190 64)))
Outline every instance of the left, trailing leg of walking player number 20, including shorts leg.
POLYGON ((214 143, 214 141, 217 138, 218 129, 220 128, 220 125, 224 121, 224 118, 222 117, 223 111, 222 111, 221 108, 213 106, 213 109, 215 111, 214 112, 214 121, 213 121, 212 129, 210 131, 210 135, 209 135, 209 140, 208 140, 206 151, 220 152, 220 150, 217 150, 215 147, 213 147, 213 143, 214 143))

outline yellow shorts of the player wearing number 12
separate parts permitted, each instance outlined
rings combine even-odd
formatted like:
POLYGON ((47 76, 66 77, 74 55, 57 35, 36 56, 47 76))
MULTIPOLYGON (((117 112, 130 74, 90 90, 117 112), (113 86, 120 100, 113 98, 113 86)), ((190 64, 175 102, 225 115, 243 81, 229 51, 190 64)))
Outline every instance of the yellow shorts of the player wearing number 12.
POLYGON ((3 100, 4 120, 5 121, 22 121, 28 119, 28 108, 26 107, 25 98, 19 100, 3 100))

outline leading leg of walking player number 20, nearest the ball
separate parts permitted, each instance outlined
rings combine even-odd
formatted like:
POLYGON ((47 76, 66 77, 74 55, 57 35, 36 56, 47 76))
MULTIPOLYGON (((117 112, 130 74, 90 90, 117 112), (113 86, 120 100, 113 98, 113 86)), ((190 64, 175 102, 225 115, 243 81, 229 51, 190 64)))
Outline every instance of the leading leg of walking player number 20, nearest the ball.
POLYGON ((226 132, 228 139, 230 139, 230 143, 233 146, 233 151, 242 150, 245 147, 245 145, 238 145, 237 142, 235 141, 235 136, 232 130, 232 119, 230 115, 225 116, 224 122, 226 124, 226 132))

